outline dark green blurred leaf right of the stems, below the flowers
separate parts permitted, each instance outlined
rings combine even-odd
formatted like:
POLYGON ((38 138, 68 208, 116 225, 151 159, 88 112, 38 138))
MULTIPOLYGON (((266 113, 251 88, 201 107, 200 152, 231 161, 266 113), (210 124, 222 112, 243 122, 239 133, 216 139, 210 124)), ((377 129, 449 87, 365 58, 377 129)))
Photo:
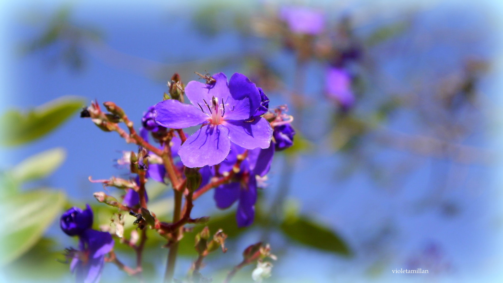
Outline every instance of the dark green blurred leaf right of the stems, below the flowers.
POLYGON ((351 251, 344 240, 330 228, 306 216, 290 216, 281 224, 285 236, 304 246, 350 256, 351 251))

